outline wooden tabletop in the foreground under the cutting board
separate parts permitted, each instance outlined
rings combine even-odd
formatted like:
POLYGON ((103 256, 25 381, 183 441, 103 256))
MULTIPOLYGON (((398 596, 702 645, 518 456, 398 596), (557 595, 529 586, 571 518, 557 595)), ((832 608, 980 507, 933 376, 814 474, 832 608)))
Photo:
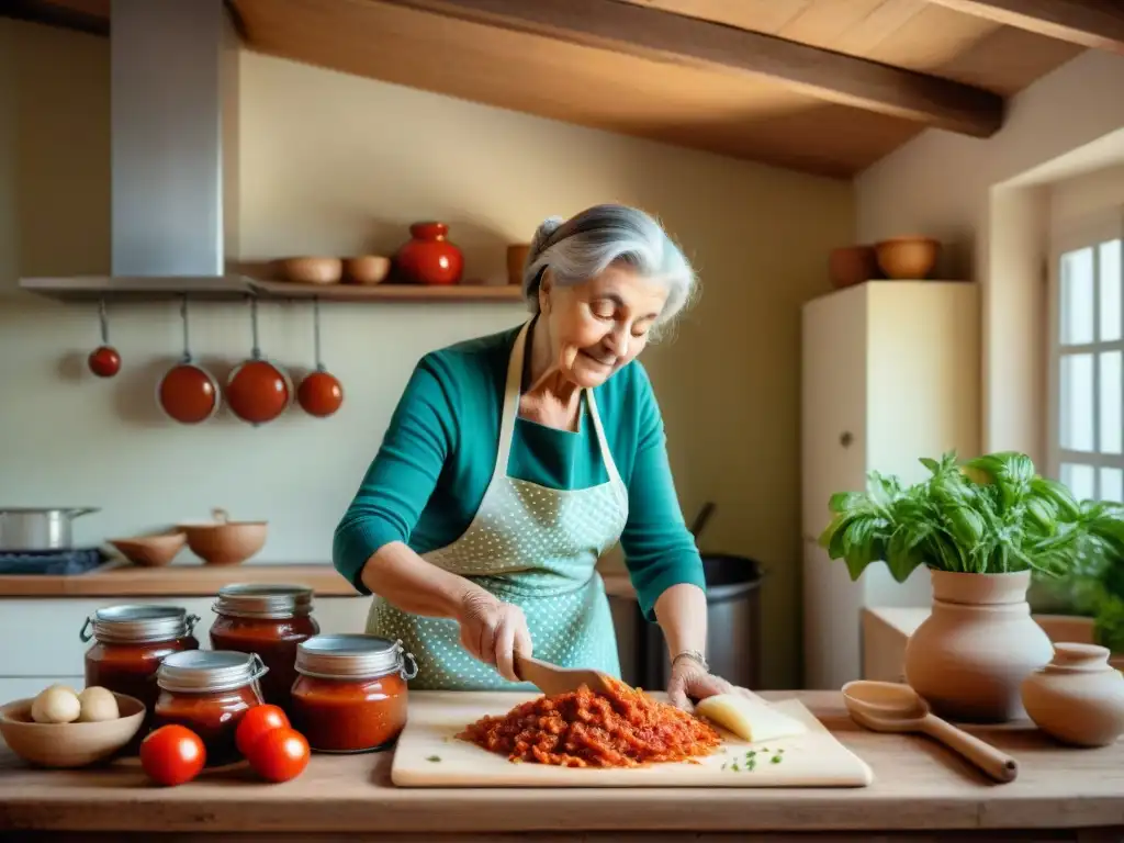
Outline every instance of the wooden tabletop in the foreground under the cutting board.
POLYGON ((314 755, 300 778, 283 785, 261 783, 234 765, 164 789, 149 785, 132 759, 96 770, 33 770, 4 747, 0 837, 6 830, 102 832, 114 833, 114 840, 125 840, 125 832, 138 839, 148 832, 207 832, 271 840, 337 834, 353 841, 365 839, 355 836, 363 832, 378 833, 380 841, 434 840, 438 832, 473 840, 502 832, 554 832, 559 839, 615 832, 607 839, 624 840, 647 832, 643 839, 652 841, 679 840, 687 832, 770 833, 772 840, 778 832, 832 831, 835 841, 916 830, 940 832, 941 840, 959 839, 958 832, 978 840, 981 831, 1003 828, 1039 840, 1059 839, 1045 830, 1070 830, 1076 840, 1099 827, 1112 830, 1106 839, 1122 839, 1124 742, 1070 750, 1028 724, 972 728, 1019 761, 1016 781, 995 785, 927 738, 859 728, 836 691, 765 696, 799 697, 870 764, 874 782, 856 789, 401 789, 390 782, 388 752, 314 755), (422 836, 404 836, 414 834, 422 836))

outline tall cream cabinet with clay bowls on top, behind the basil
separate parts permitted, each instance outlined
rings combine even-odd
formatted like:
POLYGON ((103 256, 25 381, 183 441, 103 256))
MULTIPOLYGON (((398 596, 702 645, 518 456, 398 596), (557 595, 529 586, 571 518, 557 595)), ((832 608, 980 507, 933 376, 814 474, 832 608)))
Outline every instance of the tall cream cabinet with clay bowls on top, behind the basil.
POLYGON ((816 544, 827 502, 865 488, 870 471, 914 482, 922 456, 979 453, 979 288, 871 281, 809 301, 801 368, 804 683, 839 688, 862 674, 862 609, 932 595, 925 569, 897 583, 878 563, 852 582, 816 544))

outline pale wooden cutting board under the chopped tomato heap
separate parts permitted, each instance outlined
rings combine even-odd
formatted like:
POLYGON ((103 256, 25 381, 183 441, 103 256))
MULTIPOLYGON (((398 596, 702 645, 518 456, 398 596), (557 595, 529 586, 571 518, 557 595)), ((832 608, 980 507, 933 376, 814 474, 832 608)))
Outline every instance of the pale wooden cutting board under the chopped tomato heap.
POLYGON ((870 767, 795 699, 774 705, 807 723, 807 734, 751 745, 722 732, 724 742, 719 751, 698 759, 697 764, 597 769, 513 763, 505 755, 456 738, 469 723, 484 715, 501 716, 535 696, 508 691, 411 691, 409 722, 395 750, 391 780, 399 787, 434 788, 865 787, 873 780, 870 767), (745 763, 749 750, 756 751, 752 770, 745 763), (783 760, 771 763, 774 756, 783 760))

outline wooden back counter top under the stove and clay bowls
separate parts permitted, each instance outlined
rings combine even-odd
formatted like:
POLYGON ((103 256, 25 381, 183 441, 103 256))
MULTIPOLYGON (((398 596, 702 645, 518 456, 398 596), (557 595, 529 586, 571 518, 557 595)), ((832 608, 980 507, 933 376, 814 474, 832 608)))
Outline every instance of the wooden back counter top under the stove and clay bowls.
POLYGON ((318 597, 354 597, 356 591, 329 564, 205 565, 171 564, 143 568, 108 562, 88 573, 66 577, 0 575, 4 597, 209 597, 229 582, 301 582, 318 597))

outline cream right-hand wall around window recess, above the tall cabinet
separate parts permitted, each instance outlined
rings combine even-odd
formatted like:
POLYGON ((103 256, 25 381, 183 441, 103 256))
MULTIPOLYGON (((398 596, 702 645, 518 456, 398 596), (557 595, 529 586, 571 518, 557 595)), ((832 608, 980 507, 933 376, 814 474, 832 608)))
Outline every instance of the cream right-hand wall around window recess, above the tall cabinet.
POLYGON ((859 238, 923 232, 941 238, 939 272, 985 285, 982 447, 1022 448, 1043 459, 1041 263, 1012 264, 1012 244, 1042 223, 1032 198, 1001 197, 1023 173, 1124 126, 1124 56, 1091 51, 1015 97, 991 138, 930 130, 855 181, 859 238), (1022 223, 1004 223, 1004 203, 1022 223), (994 220, 999 218, 999 223, 994 220), (1006 226, 997 243, 992 225, 1006 226), (1030 228, 1028 228, 1030 227, 1030 228), (1016 230, 1017 229, 1017 230, 1016 230))

